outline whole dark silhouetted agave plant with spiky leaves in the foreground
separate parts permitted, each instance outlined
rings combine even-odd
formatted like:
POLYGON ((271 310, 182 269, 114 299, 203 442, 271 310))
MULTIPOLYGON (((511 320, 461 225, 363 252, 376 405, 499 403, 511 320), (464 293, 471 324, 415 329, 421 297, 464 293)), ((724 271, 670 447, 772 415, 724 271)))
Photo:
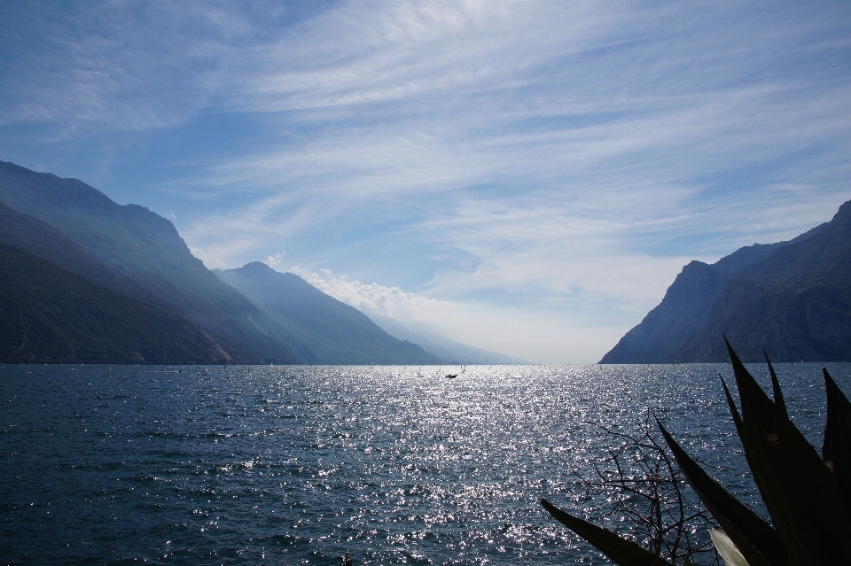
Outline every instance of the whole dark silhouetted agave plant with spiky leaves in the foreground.
MULTIPOLYGON (((727 342, 727 338, 724 337, 727 342)), ((698 497, 719 528, 715 548, 729 566, 851 564, 851 402, 823 369, 827 424, 822 456, 789 420, 777 374, 766 355, 774 399, 762 391, 727 342, 741 403, 739 413, 727 384, 722 387, 745 449, 748 467, 771 517, 770 524, 730 495, 659 425, 698 497)), ((621 566, 671 564, 612 531, 571 516, 547 500, 543 507, 560 523, 621 566)))

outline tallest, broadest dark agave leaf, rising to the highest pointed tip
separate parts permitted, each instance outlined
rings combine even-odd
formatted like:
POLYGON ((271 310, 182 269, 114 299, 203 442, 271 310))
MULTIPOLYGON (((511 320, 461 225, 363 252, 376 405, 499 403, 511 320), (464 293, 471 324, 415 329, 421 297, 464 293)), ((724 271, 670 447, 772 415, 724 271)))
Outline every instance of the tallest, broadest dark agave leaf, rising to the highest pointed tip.
POLYGON ((786 554, 801 566, 848 563, 851 521, 831 472, 729 342, 727 349, 742 404, 742 445, 786 554))

